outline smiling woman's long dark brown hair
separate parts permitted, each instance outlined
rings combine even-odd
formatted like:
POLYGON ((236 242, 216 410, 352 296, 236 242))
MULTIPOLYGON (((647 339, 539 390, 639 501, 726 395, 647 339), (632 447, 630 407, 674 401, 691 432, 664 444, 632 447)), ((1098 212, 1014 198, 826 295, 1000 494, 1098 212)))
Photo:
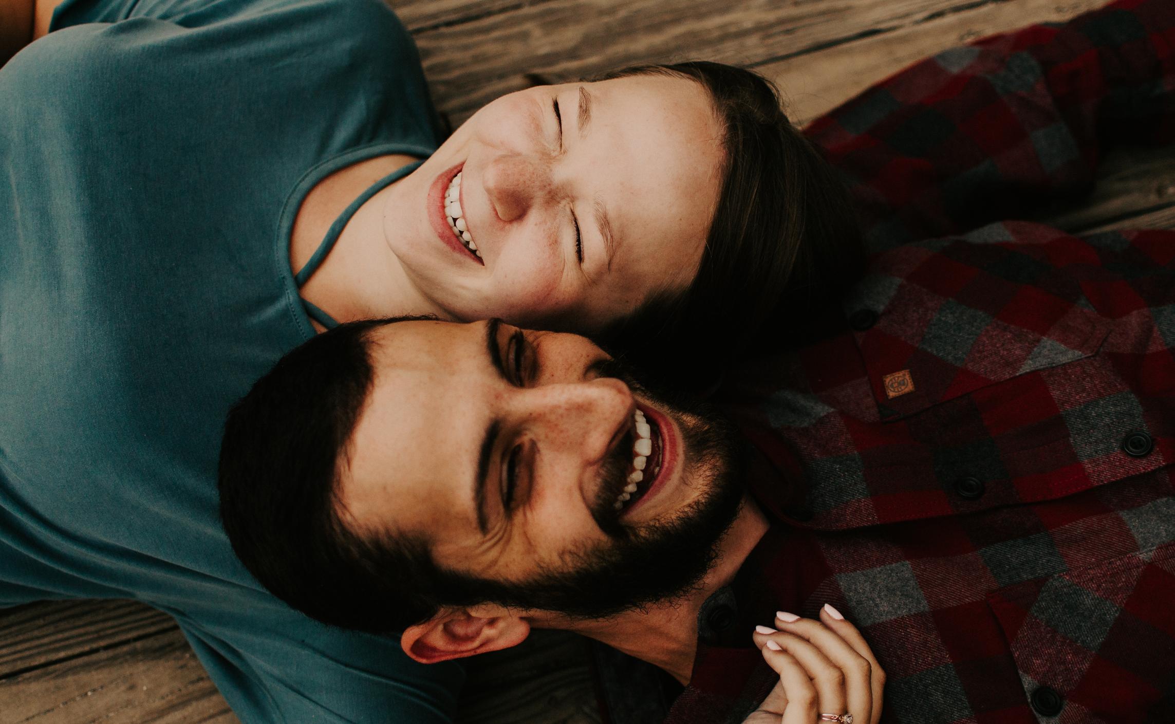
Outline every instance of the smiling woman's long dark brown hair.
POLYGON ((590 80, 631 75, 700 83, 724 127, 725 163, 693 283, 647 300, 598 336, 640 367, 689 360, 656 369, 696 386, 764 344, 800 341, 805 322, 859 279, 860 229, 838 172, 787 119, 771 81, 709 61, 633 66, 590 80))

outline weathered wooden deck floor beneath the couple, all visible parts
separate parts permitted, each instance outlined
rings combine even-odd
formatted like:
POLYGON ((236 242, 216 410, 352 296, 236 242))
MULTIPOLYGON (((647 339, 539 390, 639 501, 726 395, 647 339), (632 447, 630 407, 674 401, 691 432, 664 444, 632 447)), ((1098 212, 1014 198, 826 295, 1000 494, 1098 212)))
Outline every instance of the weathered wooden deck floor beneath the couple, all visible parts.
MULTIPOLYGON (((533 82, 712 59, 776 80, 803 122, 919 58, 1102 0, 394 0, 454 123, 533 82)), ((1110 156, 1069 230, 1175 228, 1175 152, 1110 156)), ((461 720, 598 722, 582 639, 475 659, 461 720)), ((130 602, 0 611, 0 724, 233 724, 175 624, 130 602)))

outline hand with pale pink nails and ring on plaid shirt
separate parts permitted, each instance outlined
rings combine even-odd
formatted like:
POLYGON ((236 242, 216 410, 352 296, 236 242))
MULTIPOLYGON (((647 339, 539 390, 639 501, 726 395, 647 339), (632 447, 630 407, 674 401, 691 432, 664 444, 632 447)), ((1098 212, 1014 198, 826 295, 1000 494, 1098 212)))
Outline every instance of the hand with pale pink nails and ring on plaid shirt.
POLYGON ((776 628, 756 626, 754 644, 779 673, 744 724, 822 724, 820 715, 853 716, 853 724, 881 718, 885 671, 857 626, 831 605, 820 621, 780 611, 776 628))

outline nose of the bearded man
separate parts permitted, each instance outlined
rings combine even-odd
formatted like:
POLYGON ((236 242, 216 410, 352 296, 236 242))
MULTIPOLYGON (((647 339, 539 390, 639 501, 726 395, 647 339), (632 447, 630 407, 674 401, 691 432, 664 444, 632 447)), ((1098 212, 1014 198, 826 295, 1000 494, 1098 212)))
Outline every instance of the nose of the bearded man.
POLYGON ((632 411, 629 387, 615 377, 526 390, 521 411, 540 447, 584 463, 600 461, 632 411))

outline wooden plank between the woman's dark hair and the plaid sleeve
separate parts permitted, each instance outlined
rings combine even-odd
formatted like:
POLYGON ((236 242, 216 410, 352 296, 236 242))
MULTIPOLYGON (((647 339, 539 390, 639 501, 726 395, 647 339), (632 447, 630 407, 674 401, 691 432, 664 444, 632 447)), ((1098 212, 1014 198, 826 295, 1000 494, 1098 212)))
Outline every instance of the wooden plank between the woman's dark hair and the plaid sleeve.
POLYGON ((983 2, 756 69, 776 81, 788 115, 804 125, 924 58, 1026 25, 1063 21, 1102 5, 1104 0, 983 2))

